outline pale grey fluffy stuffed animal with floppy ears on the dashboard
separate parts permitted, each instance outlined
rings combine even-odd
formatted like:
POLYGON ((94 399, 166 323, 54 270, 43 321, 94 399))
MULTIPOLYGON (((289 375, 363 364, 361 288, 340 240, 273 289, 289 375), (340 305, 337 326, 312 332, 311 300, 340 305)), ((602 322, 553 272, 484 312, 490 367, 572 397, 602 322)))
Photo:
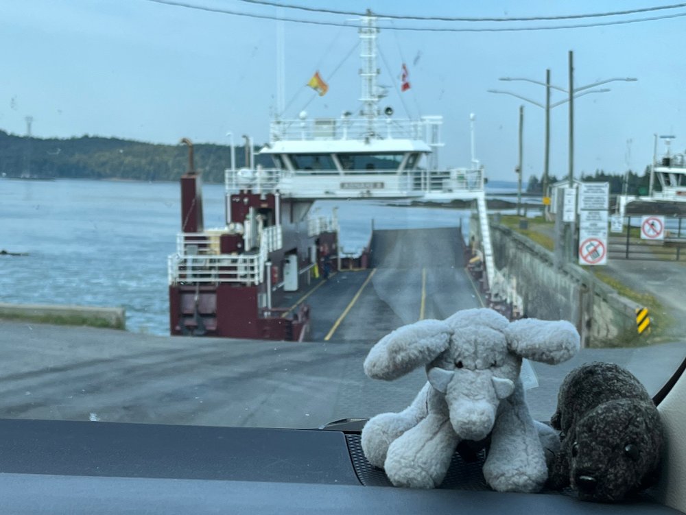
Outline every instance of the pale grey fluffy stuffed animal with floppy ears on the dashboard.
POLYGON ((486 483, 501 492, 541 490, 547 479, 541 442, 558 447, 559 441, 529 414, 521 362, 561 363, 578 349, 579 335, 569 322, 510 323, 492 309, 403 326, 372 347, 364 371, 392 380, 426 366, 429 381, 410 407, 366 423, 364 455, 395 486, 434 488, 460 441, 490 435, 486 483))

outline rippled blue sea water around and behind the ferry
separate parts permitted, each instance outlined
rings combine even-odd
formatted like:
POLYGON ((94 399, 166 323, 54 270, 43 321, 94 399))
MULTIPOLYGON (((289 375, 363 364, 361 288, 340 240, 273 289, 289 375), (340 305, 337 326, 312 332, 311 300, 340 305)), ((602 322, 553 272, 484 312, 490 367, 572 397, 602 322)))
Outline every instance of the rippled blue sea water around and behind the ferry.
MULTIPOLYGON (((224 226, 224 186, 205 184, 203 202, 205 227, 224 226)), ((334 207, 346 253, 367 245, 372 220, 377 229, 462 224, 468 234, 467 210, 327 200, 311 214, 334 207)), ((0 179, 0 250, 26 254, 0 256, 0 302, 121 306, 128 331, 167 335, 180 217, 177 182, 0 179)))

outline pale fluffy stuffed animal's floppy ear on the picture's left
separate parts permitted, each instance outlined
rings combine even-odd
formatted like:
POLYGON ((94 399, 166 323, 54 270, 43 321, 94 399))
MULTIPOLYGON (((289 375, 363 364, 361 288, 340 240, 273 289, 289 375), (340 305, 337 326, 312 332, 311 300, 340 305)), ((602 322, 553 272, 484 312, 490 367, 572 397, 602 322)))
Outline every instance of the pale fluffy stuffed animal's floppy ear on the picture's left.
POLYGON ((445 351, 452 333, 440 320, 422 320, 396 329, 372 347, 364 360, 364 372, 372 379, 397 379, 445 351))

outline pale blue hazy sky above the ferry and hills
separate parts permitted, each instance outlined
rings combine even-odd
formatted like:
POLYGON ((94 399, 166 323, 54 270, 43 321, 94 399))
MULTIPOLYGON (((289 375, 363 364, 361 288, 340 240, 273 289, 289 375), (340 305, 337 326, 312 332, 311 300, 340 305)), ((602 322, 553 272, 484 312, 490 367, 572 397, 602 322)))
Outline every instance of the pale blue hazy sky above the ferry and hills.
MULTIPOLYGON (((235 12, 273 16, 276 8, 239 0, 179 0, 235 12)), ((283 0, 292 5, 418 16, 559 16, 663 5, 649 0, 445 2, 283 0)), ((612 18, 536 21, 529 26, 587 24, 686 14, 686 8, 612 18)), ((343 23, 351 16, 283 10, 283 16, 343 23)), ((395 27, 484 28, 516 23, 380 22, 395 27)), ((339 117, 359 108, 359 52, 348 27, 285 23, 286 117, 307 106, 311 117, 339 117), (324 97, 305 86, 318 69, 329 82, 324 97)), ((499 77, 569 84, 574 51, 575 87, 615 77, 609 93, 575 102, 575 173, 597 168, 643 171, 652 158, 653 134, 675 134, 686 146, 686 16, 592 28, 530 32, 382 31, 381 84, 397 81, 401 64, 410 91, 391 93, 382 106, 396 115, 443 115, 440 163, 469 164, 469 114, 477 117, 477 157, 491 180, 514 180, 517 119, 522 103, 501 89, 545 102, 545 88, 499 77), (405 112, 405 107, 407 111, 405 112)), ((91 134, 154 143, 227 143, 226 132, 268 139, 276 108, 276 22, 163 5, 150 0, 0 0, 0 128, 25 134, 34 117, 38 137, 91 134)), ((554 93, 552 101, 563 100, 554 93)), ((526 104, 524 178, 543 166, 544 110, 526 104)), ((567 173, 567 104, 552 110, 552 165, 567 173)))

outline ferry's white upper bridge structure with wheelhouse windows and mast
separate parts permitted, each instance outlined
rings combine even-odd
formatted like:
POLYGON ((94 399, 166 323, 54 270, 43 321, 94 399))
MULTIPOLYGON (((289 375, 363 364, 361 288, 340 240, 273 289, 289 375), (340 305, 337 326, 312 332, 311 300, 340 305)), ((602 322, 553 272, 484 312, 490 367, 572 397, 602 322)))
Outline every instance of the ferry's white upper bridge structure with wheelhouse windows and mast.
POLYGON ((230 188, 278 190, 300 199, 397 198, 427 200, 476 199, 484 191, 484 171, 478 162, 470 168, 438 169, 438 149, 444 145, 440 116, 398 118, 392 108, 379 107, 385 96, 377 84, 376 18, 362 18, 360 37, 359 101, 357 115, 275 119, 270 142, 260 151, 271 156, 273 169, 243 171, 228 176, 230 188))

